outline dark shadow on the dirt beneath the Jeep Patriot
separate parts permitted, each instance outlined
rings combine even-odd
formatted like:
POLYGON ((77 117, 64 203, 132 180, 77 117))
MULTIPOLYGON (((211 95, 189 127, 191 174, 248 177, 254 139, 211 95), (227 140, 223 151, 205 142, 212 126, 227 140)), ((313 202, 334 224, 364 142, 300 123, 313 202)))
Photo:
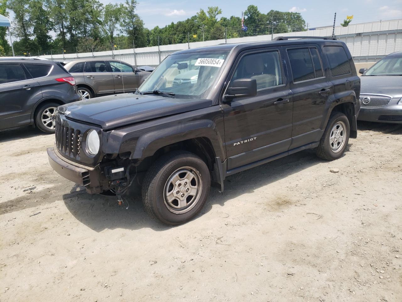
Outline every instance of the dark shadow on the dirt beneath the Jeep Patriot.
MULTIPOLYGON (((350 145, 348 147, 350 148, 350 145)), ((262 186, 321 162, 323 161, 315 155, 313 150, 305 150, 230 176, 225 180, 225 191, 223 193, 220 193, 217 188, 211 189, 207 204, 199 215, 211 211, 212 206, 215 204, 223 206, 234 197, 252 193, 262 186)), ((69 194, 64 194, 62 198, 70 213, 78 221, 96 232, 117 228, 127 230, 152 228, 156 231, 172 228, 150 218, 139 198, 131 200, 128 209, 126 209, 127 201, 125 201, 124 205, 119 206, 117 205, 116 197, 99 194, 77 194, 76 191, 81 189, 76 186, 69 194)), ((180 228, 180 225, 176 228, 180 228)))

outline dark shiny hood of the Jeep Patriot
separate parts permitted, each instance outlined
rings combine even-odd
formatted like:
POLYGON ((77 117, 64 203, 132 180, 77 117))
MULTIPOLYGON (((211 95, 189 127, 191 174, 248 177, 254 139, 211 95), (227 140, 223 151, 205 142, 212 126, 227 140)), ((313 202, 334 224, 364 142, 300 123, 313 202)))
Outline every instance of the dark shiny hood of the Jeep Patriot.
POLYGON ((160 95, 123 93, 62 105, 58 111, 73 120, 96 124, 108 130, 211 105, 210 99, 173 99, 160 95))

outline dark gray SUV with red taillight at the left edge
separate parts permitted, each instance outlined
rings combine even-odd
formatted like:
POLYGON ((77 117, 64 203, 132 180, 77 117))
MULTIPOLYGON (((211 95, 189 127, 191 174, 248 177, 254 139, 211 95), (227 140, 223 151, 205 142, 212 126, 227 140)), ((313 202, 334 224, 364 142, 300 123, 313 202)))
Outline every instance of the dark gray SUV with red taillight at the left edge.
POLYGON ((56 108, 78 100, 74 77, 59 62, 0 58, 0 130, 33 125, 54 133, 56 108))

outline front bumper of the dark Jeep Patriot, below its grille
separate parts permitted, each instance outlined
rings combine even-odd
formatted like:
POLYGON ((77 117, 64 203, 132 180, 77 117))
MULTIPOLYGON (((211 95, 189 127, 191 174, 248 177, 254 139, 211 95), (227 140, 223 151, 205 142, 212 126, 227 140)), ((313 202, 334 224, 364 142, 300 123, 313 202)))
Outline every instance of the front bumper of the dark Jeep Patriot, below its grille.
POLYGON ((54 147, 47 148, 47 158, 49 164, 58 174, 64 178, 85 186, 90 194, 102 192, 99 184, 99 173, 96 169, 84 169, 72 164, 70 161, 63 160, 62 155, 58 155, 57 149, 54 147))

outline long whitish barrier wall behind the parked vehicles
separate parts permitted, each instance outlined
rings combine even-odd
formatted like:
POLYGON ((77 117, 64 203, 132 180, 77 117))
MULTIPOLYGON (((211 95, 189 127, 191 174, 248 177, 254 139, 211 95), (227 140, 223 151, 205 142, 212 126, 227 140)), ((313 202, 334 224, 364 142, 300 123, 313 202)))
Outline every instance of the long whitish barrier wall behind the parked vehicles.
MULTIPOLYGON (((278 36, 323 36, 332 35, 332 26, 320 27, 309 31, 299 31, 294 33, 274 34, 278 36)), ((382 57, 392 52, 402 50, 402 19, 377 21, 349 25, 348 27, 336 26, 335 36, 344 41, 355 62, 374 63, 382 57)), ((79 54, 62 54, 54 56, 41 56, 51 60, 65 61, 76 58, 98 58, 122 60, 132 65, 157 66, 166 56, 178 50, 197 48, 202 46, 217 45, 220 43, 242 43, 255 41, 270 41, 272 35, 260 35, 254 37, 242 37, 233 39, 219 39, 205 42, 181 43, 172 45, 152 46, 145 48, 133 48, 115 51, 86 52, 79 54)))

